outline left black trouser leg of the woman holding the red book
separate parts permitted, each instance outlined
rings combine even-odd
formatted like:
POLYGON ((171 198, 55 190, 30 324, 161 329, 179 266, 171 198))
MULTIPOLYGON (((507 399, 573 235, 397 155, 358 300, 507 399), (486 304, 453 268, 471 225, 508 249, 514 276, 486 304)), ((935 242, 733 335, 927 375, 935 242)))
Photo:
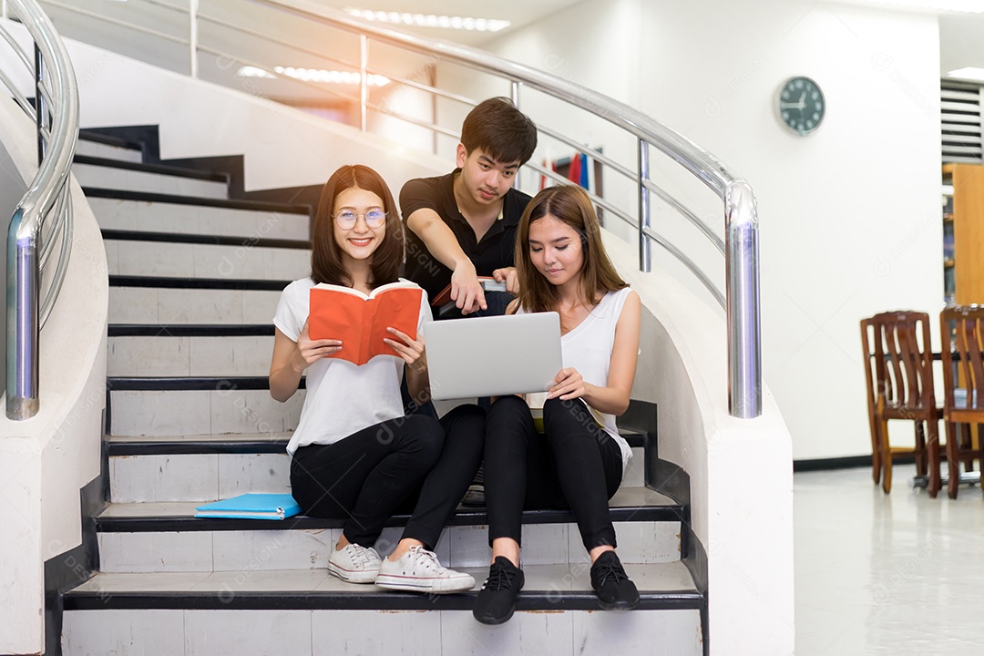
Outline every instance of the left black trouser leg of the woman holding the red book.
POLYGON ((333 445, 298 448, 290 465, 294 499, 317 517, 345 518, 349 542, 372 546, 386 520, 420 486, 441 454, 444 431, 430 417, 398 417, 333 445))

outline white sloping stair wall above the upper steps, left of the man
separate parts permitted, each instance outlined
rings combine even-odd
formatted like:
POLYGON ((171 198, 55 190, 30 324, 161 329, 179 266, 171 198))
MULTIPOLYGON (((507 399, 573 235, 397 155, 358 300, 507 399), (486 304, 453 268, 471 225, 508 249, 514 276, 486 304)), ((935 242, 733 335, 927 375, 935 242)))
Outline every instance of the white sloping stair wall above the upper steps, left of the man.
MULTIPOLYGON (((82 127, 158 125, 161 158, 244 154, 246 191, 324 183, 342 164, 376 168, 395 195, 447 160, 277 104, 249 78, 240 89, 191 80, 66 41, 79 78, 82 127), (107 98, 116 98, 107 101, 107 98), (358 133, 356 133, 358 134, 358 133)), ((232 65, 228 63, 228 65, 232 65)))

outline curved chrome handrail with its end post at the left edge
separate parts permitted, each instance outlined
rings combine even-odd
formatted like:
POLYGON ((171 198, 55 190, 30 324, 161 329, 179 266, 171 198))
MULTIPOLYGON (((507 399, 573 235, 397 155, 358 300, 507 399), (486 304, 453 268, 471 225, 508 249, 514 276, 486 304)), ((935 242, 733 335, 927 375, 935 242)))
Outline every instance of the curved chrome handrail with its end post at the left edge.
MULTIPOLYGON (((8 6, 34 41, 31 58, 14 39, 6 38, 22 62, 29 63, 34 77, 35 106, 21 106, 34 120, 38 154, 37 174, 14 210, 7 232, 7 417, 22 420, 34 416, 39 407, 40 329, 61 290, 71 253, 68 181, 79 135, 79 89, 68 51, 35 0, 6 0, 5 10, 8 6), (55 223, 45 233, 47 220, 55 223), (40 303, 40 252, 46 263, 55 240, 61 242, 59 257, 40 303)), ((6 76, 3 82, 16 96, 23 95, 6 76)))

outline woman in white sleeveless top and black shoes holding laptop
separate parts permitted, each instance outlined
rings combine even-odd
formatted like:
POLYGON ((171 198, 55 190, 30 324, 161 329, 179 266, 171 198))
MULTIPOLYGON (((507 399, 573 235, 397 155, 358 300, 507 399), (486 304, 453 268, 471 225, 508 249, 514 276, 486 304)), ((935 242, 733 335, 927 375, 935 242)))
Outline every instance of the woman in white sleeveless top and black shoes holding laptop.
POLYGON ((564 368, 546 394, 543 433, 520 396, 502 396, 485 427, 485 497, 492 565, 472 611, 508 621, 523 587, 523 508, 570 508, 591 560, 591 586, 605 610, 639 604, 615 554, 608 500, 632 450, 615 416, 629 406, 639 351, 641 301, 605 254, 597 216, 581 187, 544 189, 517 232, 520 296, 510 313, 560 315, 564 368))

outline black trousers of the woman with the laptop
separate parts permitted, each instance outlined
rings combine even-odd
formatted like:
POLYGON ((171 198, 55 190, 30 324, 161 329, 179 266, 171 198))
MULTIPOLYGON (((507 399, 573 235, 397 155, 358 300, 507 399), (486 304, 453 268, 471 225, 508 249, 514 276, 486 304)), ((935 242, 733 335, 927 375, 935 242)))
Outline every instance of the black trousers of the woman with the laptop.
POLYGON ((544 433, 519 396, 503 396, 485 423, 485 505, 489 544, 522 545, 523 508, 570 509, 584 549, 615 546, 608 500, 622 482, 622 451, 594 421, 584 402, 548 399, 544 433))

